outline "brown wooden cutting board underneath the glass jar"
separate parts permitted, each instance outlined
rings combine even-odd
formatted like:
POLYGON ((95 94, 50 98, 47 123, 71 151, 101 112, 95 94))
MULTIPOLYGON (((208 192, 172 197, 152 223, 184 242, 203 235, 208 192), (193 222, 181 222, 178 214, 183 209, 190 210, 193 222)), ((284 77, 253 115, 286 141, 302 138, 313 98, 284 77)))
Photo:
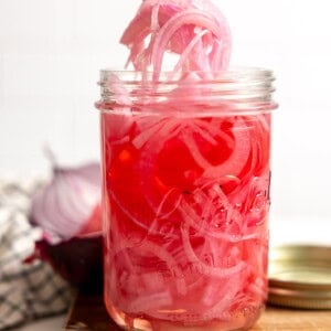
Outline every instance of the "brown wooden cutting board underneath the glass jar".
MULTIPOLYGON (((75 296, 64 330, 121 331, 109 318, 102 295, 75 296)), ((300 330, 330 331, 331 310, 295 310, 267 307, 253 331, 257 330, 300 330)))

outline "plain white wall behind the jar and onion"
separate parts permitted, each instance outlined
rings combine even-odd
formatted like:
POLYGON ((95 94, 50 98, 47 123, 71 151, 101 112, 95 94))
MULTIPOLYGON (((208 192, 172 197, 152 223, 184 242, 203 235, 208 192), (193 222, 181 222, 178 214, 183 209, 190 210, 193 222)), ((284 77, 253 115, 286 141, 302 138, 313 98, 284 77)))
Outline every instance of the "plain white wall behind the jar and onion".
MULTIPOLYGON (((232 65, 277 76, 273 222, 330 229, 330 1, 214 2, 232 26, 232 65)), ((60 163, 98 159, 98 70, 122 67, 118 40, 139 3, 0 0, 0 175, 45 173, 44 145, 60 163)))

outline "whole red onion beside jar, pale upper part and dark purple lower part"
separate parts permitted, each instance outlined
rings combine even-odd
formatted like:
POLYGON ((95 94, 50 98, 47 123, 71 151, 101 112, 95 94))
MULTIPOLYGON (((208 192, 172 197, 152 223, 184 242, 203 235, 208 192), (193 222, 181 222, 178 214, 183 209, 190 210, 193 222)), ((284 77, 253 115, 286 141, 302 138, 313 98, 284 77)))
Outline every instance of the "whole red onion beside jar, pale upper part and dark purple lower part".
POLYGON ((64 279, 81 289, 103 285, 100 167, 53 168, 50 183, 32 197, 31 222, 41 227, 30 259, 50 263, 64 279))

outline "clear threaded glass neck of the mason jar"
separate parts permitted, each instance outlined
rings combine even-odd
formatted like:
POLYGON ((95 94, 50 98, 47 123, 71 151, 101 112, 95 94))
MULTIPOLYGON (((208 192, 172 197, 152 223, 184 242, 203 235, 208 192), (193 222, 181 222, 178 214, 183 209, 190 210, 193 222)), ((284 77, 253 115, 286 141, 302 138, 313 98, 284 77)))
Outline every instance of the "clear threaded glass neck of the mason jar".
POLYGON ((99 104, 148 107, 159 111, 185 111, 186 106, 220 107, 228 111, 270 111, 275 77, 271 71, 254 67, 227 72, 153 72, 100 71, 99 104), (157 78, 156 78, 157 77, 157 78), (183 108, 183 105, 185 107, 183 108))

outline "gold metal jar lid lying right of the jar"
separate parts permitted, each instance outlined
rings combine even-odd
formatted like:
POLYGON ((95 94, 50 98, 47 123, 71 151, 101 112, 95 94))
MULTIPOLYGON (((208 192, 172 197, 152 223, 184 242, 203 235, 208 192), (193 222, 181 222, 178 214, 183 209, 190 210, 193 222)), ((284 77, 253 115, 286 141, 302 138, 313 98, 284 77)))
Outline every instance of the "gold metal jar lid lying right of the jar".
POLYGON ((268 302, 331 309, 331 247, 284 245, 271 248, 268 302))

